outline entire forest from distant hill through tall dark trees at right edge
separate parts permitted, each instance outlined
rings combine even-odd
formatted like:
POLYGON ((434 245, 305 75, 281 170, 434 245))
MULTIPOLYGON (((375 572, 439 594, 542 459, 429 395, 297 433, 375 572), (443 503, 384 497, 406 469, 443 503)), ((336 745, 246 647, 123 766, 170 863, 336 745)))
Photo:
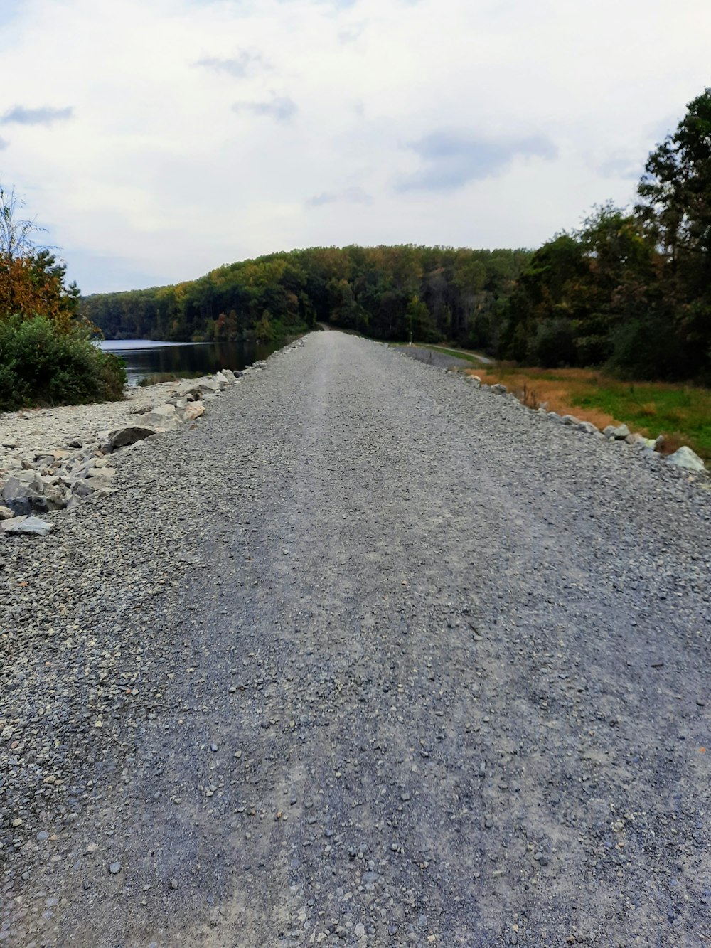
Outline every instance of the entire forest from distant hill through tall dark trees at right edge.
POLYGON ((523 365, 711 384, 711 88, 648 156, 631 210, 603 204, 536 251, 293 250, 86 297, 82 314, 110 338, 279 340, 324 321, 523 365))

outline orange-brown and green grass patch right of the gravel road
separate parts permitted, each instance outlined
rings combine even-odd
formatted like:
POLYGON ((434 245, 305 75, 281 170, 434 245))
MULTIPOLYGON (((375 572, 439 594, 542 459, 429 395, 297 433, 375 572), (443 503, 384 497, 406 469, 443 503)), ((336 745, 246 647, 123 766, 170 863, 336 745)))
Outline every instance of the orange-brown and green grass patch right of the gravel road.
POLYGON ((711 390, 663 382, 622 382, 591 369, 482 366, 483 382, 507 386, 529 407, 574 414, 598 428, 626 424, 647 438, 665 435, 666 450, 688 445, 711 460, 711 390))

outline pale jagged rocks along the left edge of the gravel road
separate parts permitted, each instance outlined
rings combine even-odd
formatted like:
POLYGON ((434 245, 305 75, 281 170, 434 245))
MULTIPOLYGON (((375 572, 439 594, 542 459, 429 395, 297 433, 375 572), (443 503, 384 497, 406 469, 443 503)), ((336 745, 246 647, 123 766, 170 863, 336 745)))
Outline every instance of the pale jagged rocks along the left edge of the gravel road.
POLYGON ((175 431, 194 422, 205 412, 205 403, 238 376, 226 369, 204 378, 177 384, 162 405, 145 404, 131 409, 140 420, 110 430, 94 430, 74 438, 63 447, 32 447, 13 442, 14 450, 0 467, 0 533, 44 535, 51 525, 34 514, 63 510, 87 497, 104 498, 114 493, 116 469, 111 456, 130 449, 165 431, 175 431))

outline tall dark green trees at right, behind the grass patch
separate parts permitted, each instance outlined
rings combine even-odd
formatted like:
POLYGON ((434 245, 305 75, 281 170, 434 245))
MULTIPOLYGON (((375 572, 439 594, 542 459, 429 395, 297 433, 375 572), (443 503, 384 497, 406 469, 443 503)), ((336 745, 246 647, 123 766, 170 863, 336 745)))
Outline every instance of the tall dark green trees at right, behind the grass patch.
POLYGON ((634 210, 540 247, 503 322, 509 358, 711 381, 711 89, 649 155, 634 210))

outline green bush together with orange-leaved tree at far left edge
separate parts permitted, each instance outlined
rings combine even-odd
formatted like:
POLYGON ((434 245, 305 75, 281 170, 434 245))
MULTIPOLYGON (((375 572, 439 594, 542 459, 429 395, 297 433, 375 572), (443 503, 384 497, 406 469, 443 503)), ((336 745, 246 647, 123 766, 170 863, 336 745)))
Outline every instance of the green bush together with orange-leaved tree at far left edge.
POLYGON ((122 398, 123 363, 92 343, 98 331, 79 312, 79 289, 34 244, 38 228, 21 208, 0 187, 0 410, 122 398))

